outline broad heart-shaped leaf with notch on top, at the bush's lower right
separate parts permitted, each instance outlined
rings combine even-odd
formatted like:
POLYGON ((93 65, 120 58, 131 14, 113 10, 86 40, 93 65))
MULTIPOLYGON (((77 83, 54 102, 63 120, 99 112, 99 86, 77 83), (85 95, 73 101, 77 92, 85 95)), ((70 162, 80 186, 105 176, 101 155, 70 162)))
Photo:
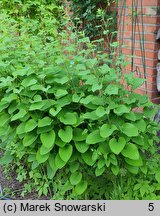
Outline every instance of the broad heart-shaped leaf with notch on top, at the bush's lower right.
POLYGON ((114 154, 119 154, 125 147, 126 140, 124 137, 120 137, 118 140, 116 138, 112 138, 109 141, 109 146, 114 154))

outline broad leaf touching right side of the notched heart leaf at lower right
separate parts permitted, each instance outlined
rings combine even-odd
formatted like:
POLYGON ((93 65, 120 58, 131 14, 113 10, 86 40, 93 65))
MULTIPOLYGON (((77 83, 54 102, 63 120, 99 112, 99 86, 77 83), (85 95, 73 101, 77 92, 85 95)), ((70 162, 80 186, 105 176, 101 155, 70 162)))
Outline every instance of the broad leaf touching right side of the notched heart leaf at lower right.
POLYGON ((139 160, 140 155, 138 148, 132 143, 127 143, 121 153, 124 157, 130 158, 132 160, 139 160))

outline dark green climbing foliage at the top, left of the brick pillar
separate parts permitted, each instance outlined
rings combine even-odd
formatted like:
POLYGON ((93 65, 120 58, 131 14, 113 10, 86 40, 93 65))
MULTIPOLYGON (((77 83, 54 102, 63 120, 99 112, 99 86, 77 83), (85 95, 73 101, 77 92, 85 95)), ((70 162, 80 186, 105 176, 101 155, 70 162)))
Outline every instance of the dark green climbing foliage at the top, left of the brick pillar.
POLYGON ((116 31, 116 9, 111 8, 115 0, 68 0, 72 20, 78 30, 83 30, 90 39, 106 37, 116 31))

